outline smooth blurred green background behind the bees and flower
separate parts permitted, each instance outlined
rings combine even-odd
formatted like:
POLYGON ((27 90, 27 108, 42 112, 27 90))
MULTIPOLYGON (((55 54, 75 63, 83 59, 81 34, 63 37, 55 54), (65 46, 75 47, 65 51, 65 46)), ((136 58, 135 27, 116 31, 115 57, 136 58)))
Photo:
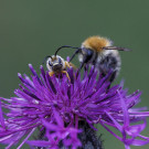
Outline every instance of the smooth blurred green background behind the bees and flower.
MULTIPOLYGON (((79 46, 89 35, 107 36, 132 50, 120 52, 117 83, 125 78, 129 93, 142 91, 139 106, 149 107, 149 0, 0 0, 0 96, 13 96, 20 83, 17 74, 30 74, 29 63, 39 71, 44 56, 61 45, 79 46)), ((61 52, 63 57, 71 54, 61 52)), ((124 149, 102 127, 99 132, 105 149, 124 149)), ((149 136, 149 125, 143 134, 149 136)))

